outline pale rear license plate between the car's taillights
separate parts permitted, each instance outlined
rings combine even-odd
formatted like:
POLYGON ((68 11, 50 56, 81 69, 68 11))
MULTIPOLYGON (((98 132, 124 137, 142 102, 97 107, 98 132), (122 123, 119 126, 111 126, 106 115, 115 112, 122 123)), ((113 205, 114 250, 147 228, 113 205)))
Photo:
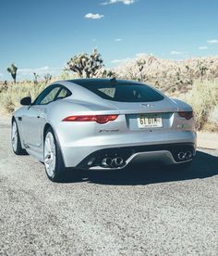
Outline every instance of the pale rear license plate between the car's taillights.
POLYGON ((163 127, 161 114, 140 114, 138 115, 139 128, 163 127))

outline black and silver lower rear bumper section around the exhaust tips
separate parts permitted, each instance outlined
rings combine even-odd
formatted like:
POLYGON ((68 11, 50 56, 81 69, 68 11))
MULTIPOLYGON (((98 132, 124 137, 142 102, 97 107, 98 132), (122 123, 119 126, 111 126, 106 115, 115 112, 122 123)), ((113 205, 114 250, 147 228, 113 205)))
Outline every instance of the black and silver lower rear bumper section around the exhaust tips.
POLYGON ((127 166, 131 161, 138 162, 148 162, 148 161, 158 161, 163 164, 180 164, 186 161, 190 161, 196 155, 196 148, 193 144, 170 144, 170 145, 151 145, 151 146, 139 146, 139 147, 115 147, 97 150, 91 155, 89 155, 86 159, 82 160, 77 168, 80 169, 94 169, 94 170, 102 170, 102 169, 123 169, 127 166), (179 160, 178 154, 180 152, 191 152, 190 159, 179 160), (102 160, 104 158, 115 159, 115 157, 121 157, 124 162, 121 166, 108 166, 105 168, 102 166, 102 160), (91 164, 91 160, 93 161, 91 164))

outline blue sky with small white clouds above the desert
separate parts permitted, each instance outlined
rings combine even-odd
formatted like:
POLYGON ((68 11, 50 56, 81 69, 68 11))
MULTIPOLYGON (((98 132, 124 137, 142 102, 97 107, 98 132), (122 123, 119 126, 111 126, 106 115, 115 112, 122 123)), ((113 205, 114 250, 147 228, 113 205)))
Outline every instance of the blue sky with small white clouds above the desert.
POLYGON ((57 73, 97 47, 111 68, 139 53, 218 56, 217 0, 1 0, 0 80, 57 73))

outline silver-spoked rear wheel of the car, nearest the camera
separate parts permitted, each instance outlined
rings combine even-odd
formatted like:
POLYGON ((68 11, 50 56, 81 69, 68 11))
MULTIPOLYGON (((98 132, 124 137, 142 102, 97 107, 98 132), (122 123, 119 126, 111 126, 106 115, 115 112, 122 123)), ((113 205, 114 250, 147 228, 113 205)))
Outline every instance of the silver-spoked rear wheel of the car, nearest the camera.
POLYGON ((52 128, 46 131, 44 137, 43 160, 45 172, 51 181, 61 182, 65 180, 66 167, 52 128))

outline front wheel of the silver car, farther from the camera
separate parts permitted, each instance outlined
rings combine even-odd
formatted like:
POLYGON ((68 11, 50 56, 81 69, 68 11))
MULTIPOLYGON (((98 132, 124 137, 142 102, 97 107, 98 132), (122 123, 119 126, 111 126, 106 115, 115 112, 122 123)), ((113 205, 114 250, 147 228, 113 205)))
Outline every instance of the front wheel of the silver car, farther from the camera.
POLYGON ((15 119, 12 121, 12 128, 11 128, 11 145, 14 153, 16 155, 27 155, 27 151, 22 148, 20 142, 20 136, 18 133, 18 124, 15 119))

